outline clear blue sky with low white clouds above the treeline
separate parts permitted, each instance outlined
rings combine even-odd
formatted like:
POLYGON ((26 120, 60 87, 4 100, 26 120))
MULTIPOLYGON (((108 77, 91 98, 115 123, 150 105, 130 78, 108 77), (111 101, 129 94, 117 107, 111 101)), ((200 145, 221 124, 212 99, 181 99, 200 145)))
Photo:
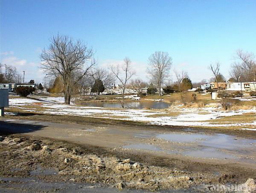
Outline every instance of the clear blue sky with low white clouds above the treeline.
POLYGON ((215 61, 228 79, 237 49, 256 54, 255 10, 255 0, 0 0, 0 62, 43 82, 41 50, 63 34, 92 46, 99 66, 129 57, 145 80, 155 51, 192 82, 211 78, 215 61))

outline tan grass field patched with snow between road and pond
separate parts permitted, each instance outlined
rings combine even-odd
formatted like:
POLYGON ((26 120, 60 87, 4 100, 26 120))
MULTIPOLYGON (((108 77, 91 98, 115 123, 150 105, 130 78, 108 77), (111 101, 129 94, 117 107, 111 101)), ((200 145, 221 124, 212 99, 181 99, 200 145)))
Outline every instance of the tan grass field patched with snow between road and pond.
MULTIPOLYGON (((187 95, 191 95, 187 93, 187 95)), ((212 101, 210 94, 198 94, 198 101, 212 101), (200 97, 199 97, 200 96, 200 97)), ((166 96, 150 96, 150 99, 163 98, 164 101, 174 100, 167 109, 114 109, 101 107, 85 107, 81 105, 64 105, 64 98, 60 96, 34 96, 30 98, 10 97, 10 106, 6 112, 83 116, 93 118, 115 119, 119 121, 132 121, 152 125, 172 125, 204 128, 256 130, 256 109, 246 105, 251 101, 236 100, 232 110, 224 111, 218 101, 208 103, 204 107, 196 105, 184 106, 178 103, 178 94, 166 96), (177 98, 177 99, 176 99, 177 98), (245 108, 245 105, 247 108, 245 108)), ((143 98, 142 100, 148 99, 143 98)), ((113 97, 112 97, 113 99, 113 97)), ((72 100, 74 103, 77 98, 72 100)))

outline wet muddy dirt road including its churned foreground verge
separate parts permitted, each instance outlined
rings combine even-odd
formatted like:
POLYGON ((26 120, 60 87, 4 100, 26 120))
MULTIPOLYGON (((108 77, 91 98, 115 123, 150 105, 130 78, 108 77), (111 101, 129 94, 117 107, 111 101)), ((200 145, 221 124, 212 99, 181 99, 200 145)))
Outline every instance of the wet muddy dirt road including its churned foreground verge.
POLYGON ((204 192, 256 179, 254 136, 17 118, 0 118, 0 133, 1 192, 204 192))

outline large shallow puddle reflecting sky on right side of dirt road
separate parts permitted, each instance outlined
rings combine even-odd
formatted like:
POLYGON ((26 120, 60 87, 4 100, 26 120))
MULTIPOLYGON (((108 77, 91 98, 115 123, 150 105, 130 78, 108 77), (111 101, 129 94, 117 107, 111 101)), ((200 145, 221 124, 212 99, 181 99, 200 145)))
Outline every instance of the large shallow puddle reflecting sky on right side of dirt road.
MULTIPOLYGON (((171 142, 187 143, 186 150, 180 153, 183 156, 192 156, 197 158, 214 159, 239 159, 241 156, 253 155, 255 152, 255 139, 244 139, 226 134, 208 135, 205 133, 165 133, 157 135, 156 138, 169 140, 171 142), (193 143, 196 149, 191 148, 189 143, 193 143), (222 150, 230 150, 232 154, 222 150), (233 156, 233 154, 238 155, 233 156)), ((166 151, 169 153, 168 151, 166 151)))

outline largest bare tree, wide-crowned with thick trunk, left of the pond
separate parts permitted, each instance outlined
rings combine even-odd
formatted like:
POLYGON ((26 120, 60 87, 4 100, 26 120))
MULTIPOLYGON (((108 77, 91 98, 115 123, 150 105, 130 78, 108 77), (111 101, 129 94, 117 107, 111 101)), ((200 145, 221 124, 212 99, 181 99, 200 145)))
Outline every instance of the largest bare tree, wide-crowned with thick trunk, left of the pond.
POLYGON ((52 36, 49 48, 42 51, 41 68, 48 75, 61 78, 65 104, 70 104, 74 86, 96 64, 93 55, 93 49, 81 40, 59 34, 52 36))

